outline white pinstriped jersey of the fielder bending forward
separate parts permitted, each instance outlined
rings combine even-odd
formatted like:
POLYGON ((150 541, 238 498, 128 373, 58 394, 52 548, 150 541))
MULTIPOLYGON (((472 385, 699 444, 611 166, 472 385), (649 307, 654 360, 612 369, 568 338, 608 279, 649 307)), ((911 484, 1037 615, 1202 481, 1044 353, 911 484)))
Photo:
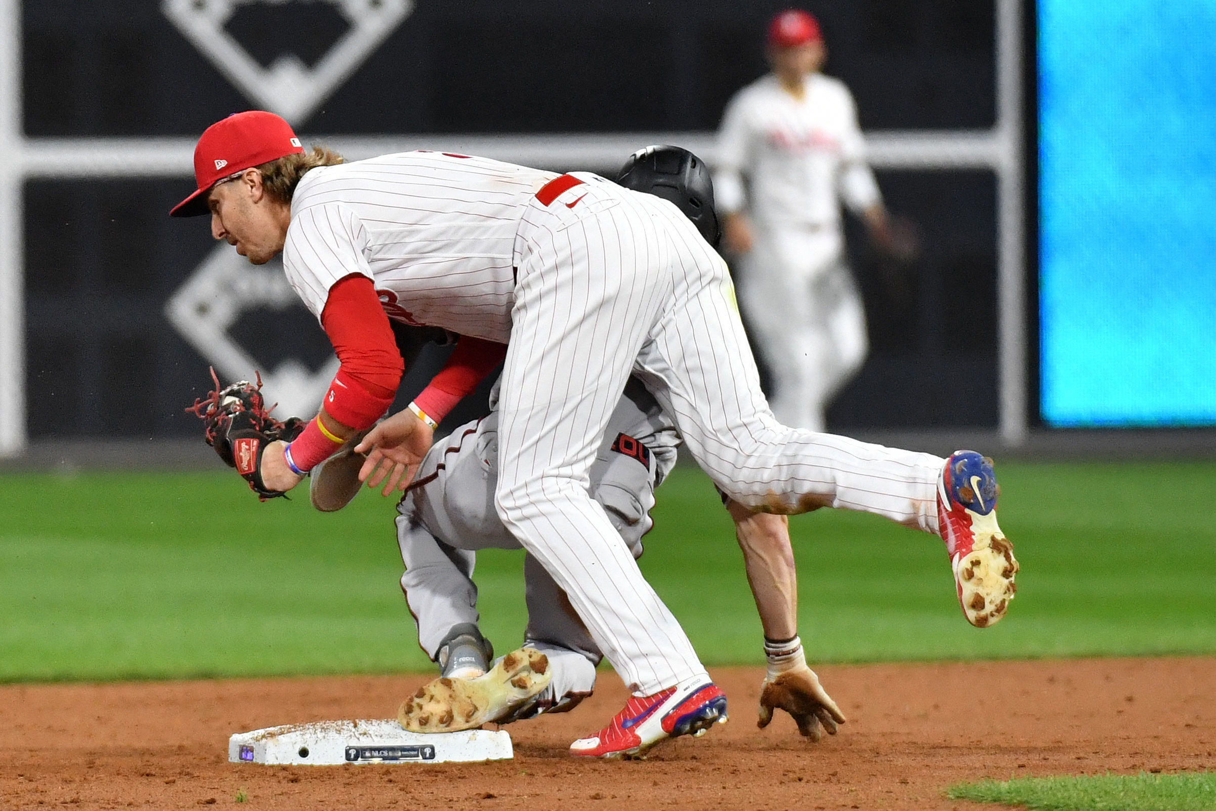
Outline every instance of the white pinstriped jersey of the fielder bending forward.
POLYGON ((554 173, 443 152, 313 169, 292 199, 287 281, 317 317, 362 274, 390 319, 506 343, 524 207, 554 173))

